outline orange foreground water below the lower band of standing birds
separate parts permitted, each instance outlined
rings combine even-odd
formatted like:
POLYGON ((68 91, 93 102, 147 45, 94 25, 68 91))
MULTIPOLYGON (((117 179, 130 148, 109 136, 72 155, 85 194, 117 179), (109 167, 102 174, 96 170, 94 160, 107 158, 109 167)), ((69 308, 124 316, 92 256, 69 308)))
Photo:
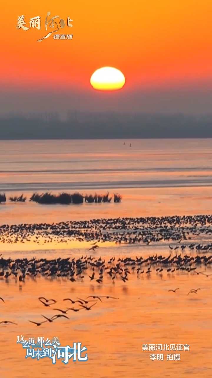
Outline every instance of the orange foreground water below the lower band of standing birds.
MULTIPOLYGON (((130 249, 131 256, 135 257, 134 248, 130 249)), ((84 252, 78 251, 77 257, 84 252)), ((148 256, 142 248, 136 251, 136 255, 140 253, 148 256)), ((12 254, 12 257, 15 256, 12 254)), ((58 256, 51 253, 48 257, 58 256)), ((68 253, 66 256, 69 256, 68 253)), ((211 269, 207 271, 211 273, 211 269)), ((139 279, 136 273, 131 274, 125 284, 120 279, 113 284, 108 276, 102 285, 98 285, 97 282, 91 282, 86 273, 84 280, 74 283, 62 277, 57 280, 48 277, 32 280, 26 277, 22 283, 11 277, 7 282, 0 280, 0 293, 5 299, 5 304, 0 303, 0 319, 18 324, 0 325, 1 376, 29 377, 28 372, 36 369, 38 378, 46 375, 54 378, 69 375, 76 378, 210 377, 210 282, 210 277, 200 277, 194 273, 167 274, 164 271, 159 276, 155 270, 148 277, 143 275, 139 279), (168 291, 177 287, 179 290, 176 293, 168 291), (187 295, 191 288, 197 287, 201 288, 198 294, 187 295), (103 303, 98 301, 91 311, 69 311, 69 319, 57 319, 41 327, 29 322, 41 321, 41 314, 53 316, 57 313, 54 307, 69 307, 63 301, 64 298, 77 299, 89 295, 110 295, 119 299, 102 299, 103 303), (54 297, 58 301, 57 305, 46 308, 38 301, 39 296, 54 297), (38 336, 51 339, 58 336, 63 346, 80 341, 88 348, 89 360, 85 363, 69 361, 65 366, 61 361, 53 365, 50 359, 25 359, 26 350, 16 344, 17 335, 20 334, 26 339, 38 336), (152 352, 142 351, 143 344, 189 344, 190 350, 180 352, 181 361, 166 361, 169 352, 164 352, 164 361, 151 361, 152 352)))

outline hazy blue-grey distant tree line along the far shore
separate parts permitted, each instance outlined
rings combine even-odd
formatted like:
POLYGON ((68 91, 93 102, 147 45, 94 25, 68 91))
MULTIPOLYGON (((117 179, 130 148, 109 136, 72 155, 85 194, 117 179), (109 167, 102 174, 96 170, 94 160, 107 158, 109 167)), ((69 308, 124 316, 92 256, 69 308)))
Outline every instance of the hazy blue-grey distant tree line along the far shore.
POLYGON ((0 118, 0 139, 212 138, 212 115, 82 113, 0 118))

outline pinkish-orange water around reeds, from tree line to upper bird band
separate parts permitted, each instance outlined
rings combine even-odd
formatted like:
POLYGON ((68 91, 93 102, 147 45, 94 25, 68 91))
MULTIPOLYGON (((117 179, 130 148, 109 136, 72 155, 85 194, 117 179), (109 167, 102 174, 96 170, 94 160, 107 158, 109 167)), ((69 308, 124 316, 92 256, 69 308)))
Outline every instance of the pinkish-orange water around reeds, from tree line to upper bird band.
POLYGON ((0 215, 3 222, 22 223, 210 214, 211 145, 211 139, 0 141, 0 192, 8 198, 0 215), (28 201, 35 191, 109 191, 123 200, 39 205, 28 201), (9 201, 22 192, 26 203, 9 201))

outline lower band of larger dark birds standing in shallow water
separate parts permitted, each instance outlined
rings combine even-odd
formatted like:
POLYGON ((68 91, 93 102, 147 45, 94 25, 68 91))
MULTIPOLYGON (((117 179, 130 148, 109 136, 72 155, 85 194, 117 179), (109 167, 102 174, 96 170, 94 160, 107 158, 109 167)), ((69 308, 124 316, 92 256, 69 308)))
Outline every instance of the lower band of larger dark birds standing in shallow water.
MULTIPOLYGON (((182 245, 184 246, 184 245, 182 245)), ((182 247, 181 246, 181 247, 182 247)), ((200 245, 201 246, 201 245, 200 245)), ((174 247, 173 247, 174 248, 174 247)), ((141 275, 150 277, 153 271, 160 276, 166 272, 167 274, 174 274, 179 272, 195 273, 197 275, 211 276, 206 268, 211 268, 212 254, 183 254, 184 248, 181 248, 181 253, 171 251, 169 256, 162 254, 154 254, 143 258, 142 256, 132 257, 111 257, 102 258, 101 256, 81 256, 67 257, 58 259, 4 259, 0 255, 0 279, 5 279, 7 282, 12 277, 19 282, 25 282, 26 277, 35 279, 35 277, 45 277, 46 279, 57 279, 63 277, 64 279, 74 282, 84 282, 84 280, 97 282, 99 285, 107 278, 113 283, 117 280, 122 280, 124 283, 128 281, 129 275, 137 274, 139 278, 141 275), (200 271, 204 268, 204 271, 200 271)), ((189 246, 188 246, 189 248, 189 246)), ((190 248, 194 248, 190 245, 190 248)))

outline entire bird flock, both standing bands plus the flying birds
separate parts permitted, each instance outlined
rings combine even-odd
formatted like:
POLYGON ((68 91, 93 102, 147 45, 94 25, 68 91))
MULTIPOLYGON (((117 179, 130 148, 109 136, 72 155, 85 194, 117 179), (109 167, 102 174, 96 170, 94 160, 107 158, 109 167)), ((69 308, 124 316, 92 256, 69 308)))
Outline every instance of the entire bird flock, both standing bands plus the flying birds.
MULTIPOLYGON (((212 264, 212 215, 147 217, 147 218, 101 218, 84 221, 70 221, 60 223, 34 223, 0 226, 0 244, 34 242, 38 245, 56 242, 69 243, 73 240, 92 243, 86 256, 58 257, 55 259, 4 258, 0 254, 0 282, 14 279, 19 285, 28 279, 39 277, 45 279, 59 279, 70 282, 70 285, 84 281, 101 286, 104 283, 115 282, 126 284, 131 277, 151 278, 154 273, 158 277, 173 276, 175 274, 195 274, 198 277, 210 277, 212 264), (203 237, 205 242, 203 242, 203 237), (207 239, 206 239, 207 238, 207 239), (202 240, 200 242, 200 240, 202 240), (96 251, 101 248, 98 243, 115 242, 117 244, 143 243, 147 247, 150 243, 167 243, 169 254, 153 253, 148 257, 97 257, 96 251), (94 253, 94 255, 90 255, 94 253), (88 256, 87 256, 88 255, 88 256)), ((154 244, 153 244, 154 246, 154 244)), ((205 279, 206 279, 205 278, 205 279)), ((173 295, 179 288, 170 289, 173 295)), ((191 289, 187 295, 197 295, 201 288, 191 289)), ((57 311, 54 315, 41 314, 43 320, 29 322, 40 326, 51 323, 59 318, 69 319, 71 311, 91 311, 104 299, 118 299, 110 296, 91 295, 86 298, 65 298, 63 303, 70 307, 60 308, 57 300, 39 297, 41 305, 57 311)), ((0 297, 1 307, 6 305, 5 299, 0 297)), ((17 324, 8 320, 0 324, 17 324)))

